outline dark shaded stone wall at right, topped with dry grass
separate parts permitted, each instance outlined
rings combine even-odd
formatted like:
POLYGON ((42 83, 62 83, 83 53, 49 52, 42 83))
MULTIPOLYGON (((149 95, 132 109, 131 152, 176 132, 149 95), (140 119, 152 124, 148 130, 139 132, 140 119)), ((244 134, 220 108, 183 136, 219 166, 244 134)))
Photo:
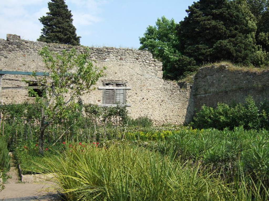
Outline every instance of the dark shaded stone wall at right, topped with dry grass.
POLYGON ((269 71, 228 65, 200 69, 194 77, 194 108, 216 107, 218 102, 243 103, 248 95, 260 104, 269 100, 269 71))

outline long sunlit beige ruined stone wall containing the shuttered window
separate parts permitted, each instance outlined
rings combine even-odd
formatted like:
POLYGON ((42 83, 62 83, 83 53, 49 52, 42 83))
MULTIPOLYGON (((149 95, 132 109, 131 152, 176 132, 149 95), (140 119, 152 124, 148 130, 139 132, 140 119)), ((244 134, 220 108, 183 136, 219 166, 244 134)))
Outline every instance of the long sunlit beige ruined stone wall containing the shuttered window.
MULTIPOLYGON (((19 36, 8 35, 7 40, 0 39, 0 69, 12 71, 46 72, 38 51, 49 46, 53 51, 82 46, 47 44, 21 40, 19 36)), ((162 79, 162 63, 154 59, 147 51, 102 47, 90 47, 91 59, 96 66, 106 66, 106 76, 98 81, 96 87, 102 86, 102 80, 122 80, 131 90, 126 92, 129 115, 133 118, 147 116, 157 124, 182 124, 189 121, 193 114, 193 97, 190 88, 180 89, 174 81, 162 79)), ((22 81, 6 79, 29 79, 29 76, 4 75, 2 87, 27 86, 22 81)), ((2 90, 2 104, 32 102, 28 90, 2 90)), ((84 103, 102 105, 102 90, 95 90, 82 97, 84 103)))

